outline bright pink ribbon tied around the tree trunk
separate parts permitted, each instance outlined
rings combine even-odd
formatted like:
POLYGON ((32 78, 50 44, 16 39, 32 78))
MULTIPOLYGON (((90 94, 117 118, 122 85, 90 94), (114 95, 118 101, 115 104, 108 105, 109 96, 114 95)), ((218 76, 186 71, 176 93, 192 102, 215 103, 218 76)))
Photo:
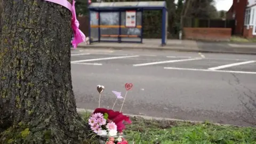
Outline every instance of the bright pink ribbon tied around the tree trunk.
POLYGON ((65 0, 64 1, 63 0, 43 0, 43 1, 62 5, 71 11, 72 13, 71 27, 73 29, 73 34, 74 34, 74 39, 72 41, 72 44, 74 48, 76 48, 79 43, 82 43, 85 41, 86 37, 84 33, 79 29, 79 22, 76 19, 75 0, 73 0, 72 5, 67 0, 66 1, 65 0))

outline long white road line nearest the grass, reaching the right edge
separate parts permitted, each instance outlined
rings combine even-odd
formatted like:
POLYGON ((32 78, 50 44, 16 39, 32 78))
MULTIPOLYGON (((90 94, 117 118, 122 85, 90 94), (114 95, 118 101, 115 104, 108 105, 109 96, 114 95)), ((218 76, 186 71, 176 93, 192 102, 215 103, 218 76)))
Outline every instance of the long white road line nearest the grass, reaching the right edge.
POLYGON ((208 72, 220 72, 220 73, 238 73, 238 74, 256 74, 256 72, 251 72, 251 71, 211 70, 211 69, 174 68, 174 67, 164 67, 164 69, 190 70, 190 71, 208 71, 208 72))

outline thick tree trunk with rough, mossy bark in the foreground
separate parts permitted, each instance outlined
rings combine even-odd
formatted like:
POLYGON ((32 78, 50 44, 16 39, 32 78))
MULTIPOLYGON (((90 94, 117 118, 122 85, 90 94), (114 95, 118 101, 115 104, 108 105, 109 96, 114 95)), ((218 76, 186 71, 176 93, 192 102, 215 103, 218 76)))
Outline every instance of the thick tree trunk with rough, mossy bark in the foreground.
POLYGON ((71 12, 42 0, 3 4, 0 143, 82 143, 86 125, 70 74, 71 12))

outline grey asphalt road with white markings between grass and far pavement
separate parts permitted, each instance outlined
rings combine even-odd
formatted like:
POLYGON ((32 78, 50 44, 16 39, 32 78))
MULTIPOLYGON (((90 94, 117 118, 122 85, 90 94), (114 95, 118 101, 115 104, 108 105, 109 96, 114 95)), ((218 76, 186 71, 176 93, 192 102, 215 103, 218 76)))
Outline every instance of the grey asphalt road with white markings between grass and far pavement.
MULTIPOLYGON (((251 126, 256 123, 256 56, 146 50, 71 50, 77 108, 111 108, 126 90, 129 114, 251 126), (254 124, 253 124, 254 122, 254 124)), ((117 101, 115 110, 121 108, 117 101)))

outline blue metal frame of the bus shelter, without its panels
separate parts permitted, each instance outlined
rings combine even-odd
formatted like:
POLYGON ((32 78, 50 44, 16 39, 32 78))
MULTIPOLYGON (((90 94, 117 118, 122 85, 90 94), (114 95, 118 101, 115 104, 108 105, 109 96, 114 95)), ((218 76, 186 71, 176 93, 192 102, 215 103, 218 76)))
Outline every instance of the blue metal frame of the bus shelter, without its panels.
MULTIPOLYGON (((163 5, 163 6, 119 6, 119 7, 115 7, 115 6, 110 6, 110 7, 88 7, 89 8, 89 11, 95 11, 95 12, 99 12, 99 23, 98 25, 100 26, 100 12, 119 12, 119 26, 122 25, 122 22, 121 22, 121 18, 122 18, 122 13, 121 12, 124 12, 124 11, 132 11, 132 10, 135 10, 135 11, 141 11, 141 36, 139 36, 140 38, 140 41, 122 41, 121 37, 118 36, 118 39, 117 41, 112 41, 112 40, 101 40, 100 39, 100 27, 99 27, 99 38, 98 38, 98 41, 99 42, 125 42, 125 43, 142 43, 143 42, 143 10, 162 10, 162 46, 166 45, 166 40, 165 40, 165 34, 166 34, 166 27, 165 27, 165 23, 166 23, 166 12, 167 12, 167 9, 166 9, 166 6, 163 5)), ((91 17, 89 16, 90 18, 90 21, 91 21, 91 17)), ((136 17, 137 18, 137 17, 136 17)), ((90 33, 91 33, 91 23, 90 23, 90 33)), ((119 27, 119 35, 121 35, 121 27, 119 27)), ((91 34, 90 34, 91 36, 91 34)), ((93 42, 97 42, 97 41, 93 41, 93 42)))

